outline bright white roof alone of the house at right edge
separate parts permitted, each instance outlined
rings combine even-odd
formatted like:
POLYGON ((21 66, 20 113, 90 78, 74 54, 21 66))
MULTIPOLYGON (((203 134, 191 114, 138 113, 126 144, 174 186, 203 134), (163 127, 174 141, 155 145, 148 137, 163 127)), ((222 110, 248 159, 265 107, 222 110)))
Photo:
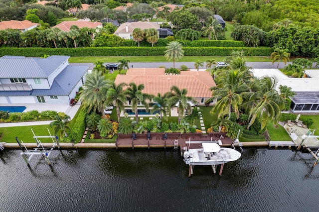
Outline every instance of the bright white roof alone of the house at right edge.
POLYGON ((278 69, 254 69, 253 74, 259 79, 265 76, 274 77, 277 80, 277 91, 279 91, 280 85, 290 87, 294 92, 319 91, 319 78, 291 78, 278 69))

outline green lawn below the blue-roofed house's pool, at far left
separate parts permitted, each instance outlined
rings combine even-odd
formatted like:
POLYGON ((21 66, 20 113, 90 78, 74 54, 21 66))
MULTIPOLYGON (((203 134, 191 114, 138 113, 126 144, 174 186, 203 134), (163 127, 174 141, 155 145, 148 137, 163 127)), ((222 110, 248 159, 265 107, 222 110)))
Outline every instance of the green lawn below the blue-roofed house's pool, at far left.
MULTIPOLYGON (((35 141, 31 129, 35 135, 49 135, 47 129, 50 130, 51 135, 54 135, 50 125, 1 127, 0 134, 3 133, 1 142, 15 143, 15 136, 17 136, 19 140, 22 140, 24 143, 34 143, 35 141)), ((40 141, 43 143, 52 142, 52 139, 41 138, 40 141)))

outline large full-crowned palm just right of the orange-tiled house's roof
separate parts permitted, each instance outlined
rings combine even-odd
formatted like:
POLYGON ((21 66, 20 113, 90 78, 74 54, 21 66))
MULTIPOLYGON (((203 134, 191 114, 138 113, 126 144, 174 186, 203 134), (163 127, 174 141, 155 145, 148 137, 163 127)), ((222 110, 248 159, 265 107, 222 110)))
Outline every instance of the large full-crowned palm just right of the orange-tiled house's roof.
POLYGON ((225 71, 224 74, 218 76, 216 87, 210 88, 212 90, 212 98, 206 102, 213 102, 217 100, 216 105, 213 107, 212 112, 218 112, 218 117, 228 112, 228 120, 233 111, 239 116, 238 107, 242 104, 243 99, 241 93, 248 90, 248 86, 243 83, 245 73, 240 70, 225 71))

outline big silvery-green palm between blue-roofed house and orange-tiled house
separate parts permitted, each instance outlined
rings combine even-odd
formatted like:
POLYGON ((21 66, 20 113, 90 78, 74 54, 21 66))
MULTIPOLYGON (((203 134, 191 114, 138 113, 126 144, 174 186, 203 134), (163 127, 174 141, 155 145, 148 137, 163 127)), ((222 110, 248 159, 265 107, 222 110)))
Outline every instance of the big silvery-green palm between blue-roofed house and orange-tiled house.
POLYGON ((109 80, 105 80, 101 72, 92 72, 86 76, 84 89, 81 94, 83 106, 87 106, 87 111, 91 109, 103 113, 106 102, 106 93, 109 87, 109 80))

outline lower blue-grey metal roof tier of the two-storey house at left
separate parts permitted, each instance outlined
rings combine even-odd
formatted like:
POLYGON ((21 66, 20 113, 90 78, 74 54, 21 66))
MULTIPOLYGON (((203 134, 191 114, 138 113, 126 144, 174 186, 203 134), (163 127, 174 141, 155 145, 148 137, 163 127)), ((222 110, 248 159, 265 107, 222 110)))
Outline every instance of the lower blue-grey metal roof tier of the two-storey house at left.
POLYGON ((51 89, 0 91, 0 96, 68 96, 88 69, 89 66, 67 66, 56 76, 51 89))

